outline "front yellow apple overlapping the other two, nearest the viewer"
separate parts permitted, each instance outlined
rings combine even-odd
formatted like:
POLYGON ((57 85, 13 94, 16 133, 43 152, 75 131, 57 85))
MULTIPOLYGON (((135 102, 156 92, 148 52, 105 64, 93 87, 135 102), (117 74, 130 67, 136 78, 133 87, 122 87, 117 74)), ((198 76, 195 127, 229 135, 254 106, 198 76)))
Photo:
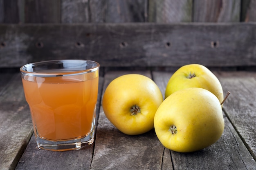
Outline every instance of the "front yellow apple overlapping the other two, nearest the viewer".
POLYGON ((186 88, 168 96, 154 119, 159 141, 176 152, 193 152, 212 145, 223 133, 218 98, 206 89, 186 88))

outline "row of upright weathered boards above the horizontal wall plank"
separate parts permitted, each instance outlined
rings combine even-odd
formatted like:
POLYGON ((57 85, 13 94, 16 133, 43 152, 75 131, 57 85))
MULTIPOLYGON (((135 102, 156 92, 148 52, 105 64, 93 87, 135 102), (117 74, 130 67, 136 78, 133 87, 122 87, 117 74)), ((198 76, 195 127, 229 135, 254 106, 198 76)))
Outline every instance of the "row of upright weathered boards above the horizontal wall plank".
POLYGON ((256 0, 0 0, 0 23, 252 22, 256 0))

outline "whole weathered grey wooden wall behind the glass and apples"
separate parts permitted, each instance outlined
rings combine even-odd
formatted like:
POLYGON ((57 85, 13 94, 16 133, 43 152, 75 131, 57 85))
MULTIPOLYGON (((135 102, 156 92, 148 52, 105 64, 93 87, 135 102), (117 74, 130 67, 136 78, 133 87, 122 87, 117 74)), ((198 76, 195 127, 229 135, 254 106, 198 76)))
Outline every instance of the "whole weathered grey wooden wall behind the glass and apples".
POLYGON ((0 68, 74 58, 255 70, 255 21, 256 0, 0 0, 0 68))

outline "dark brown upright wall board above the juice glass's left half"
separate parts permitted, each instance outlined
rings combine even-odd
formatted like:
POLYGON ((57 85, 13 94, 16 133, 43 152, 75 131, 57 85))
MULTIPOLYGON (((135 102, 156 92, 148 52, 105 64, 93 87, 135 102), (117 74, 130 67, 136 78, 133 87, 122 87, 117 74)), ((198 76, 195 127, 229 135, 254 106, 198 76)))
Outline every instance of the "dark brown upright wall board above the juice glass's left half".
POLYGON ((61 22, 61 0, 25 0, 25 23, 61 22))

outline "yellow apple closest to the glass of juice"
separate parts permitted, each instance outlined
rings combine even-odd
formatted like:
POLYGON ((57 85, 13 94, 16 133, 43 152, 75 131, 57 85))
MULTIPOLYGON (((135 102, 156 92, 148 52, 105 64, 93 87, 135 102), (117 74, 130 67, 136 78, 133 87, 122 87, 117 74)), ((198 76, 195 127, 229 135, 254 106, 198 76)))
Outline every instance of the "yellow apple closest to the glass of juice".
POLYGON ((136 135, 154 127, 154 116, 163 96, 153 80, 126 74, 111 81, 102 99, 108 120, 121 132, 136 135))

